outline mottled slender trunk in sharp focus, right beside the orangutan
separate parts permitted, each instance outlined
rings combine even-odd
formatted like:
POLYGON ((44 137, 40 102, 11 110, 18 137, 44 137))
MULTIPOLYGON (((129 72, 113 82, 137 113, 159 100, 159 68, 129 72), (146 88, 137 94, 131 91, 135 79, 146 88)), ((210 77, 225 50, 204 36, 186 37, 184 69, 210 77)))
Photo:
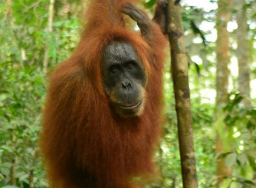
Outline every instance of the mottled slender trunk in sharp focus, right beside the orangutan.
POLYGON ((168 37, 171 45, 171 70, 176 101, 179 149, 184 188, 197 187, 196 160, 188 86, 188 61, 183 39, 183 22, 180 5, 169 0, 168 37))

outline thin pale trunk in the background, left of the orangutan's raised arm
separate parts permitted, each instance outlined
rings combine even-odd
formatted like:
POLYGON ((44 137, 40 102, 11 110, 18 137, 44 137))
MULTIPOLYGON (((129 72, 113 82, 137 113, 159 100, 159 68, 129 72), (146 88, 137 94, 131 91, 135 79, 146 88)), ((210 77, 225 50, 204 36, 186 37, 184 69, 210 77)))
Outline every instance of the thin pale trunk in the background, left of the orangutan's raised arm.
MULTIPOLYGON (((49 10, 48 10, 48 27, 47 27, 47 36, 51 36, 52 33, 52 23, 54 18, 54 2, 55 0, 49 0, 49 10)), ((44 47, 44 57, 43 57, 43 72, 47 73, 49 61, 49 41, 46 41, 44 47)))

